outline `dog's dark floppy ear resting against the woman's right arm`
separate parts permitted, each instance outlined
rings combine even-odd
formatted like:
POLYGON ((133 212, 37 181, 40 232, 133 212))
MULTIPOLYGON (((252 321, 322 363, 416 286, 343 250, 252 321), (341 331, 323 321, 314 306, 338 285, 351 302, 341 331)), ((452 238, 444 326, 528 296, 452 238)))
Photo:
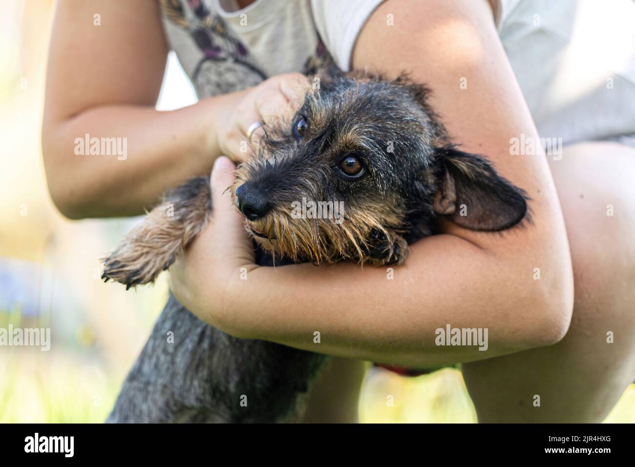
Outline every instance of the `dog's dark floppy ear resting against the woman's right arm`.
POLYGON ((454 145, 435 149, 441 170, 434 211, 466 229, 499 231, 525 217, 525 191, 500 177, 481 156, 454 145))

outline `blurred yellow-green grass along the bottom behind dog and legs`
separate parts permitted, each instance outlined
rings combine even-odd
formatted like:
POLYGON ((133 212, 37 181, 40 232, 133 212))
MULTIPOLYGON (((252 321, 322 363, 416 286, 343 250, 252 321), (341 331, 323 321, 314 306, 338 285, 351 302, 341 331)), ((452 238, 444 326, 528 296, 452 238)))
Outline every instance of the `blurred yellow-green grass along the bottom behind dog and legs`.
MULTIPOLYGON (((96 358, 68 353, 13 348, 0 355, 1 423, 102 423, 124 377, 109 374, 96 358)), ((372 370, 360 398, 360 421, 474 423, 476 416, 457 370, 415 378, 372 370)), ((635 385, 606 422, 635 423, 635 385)))

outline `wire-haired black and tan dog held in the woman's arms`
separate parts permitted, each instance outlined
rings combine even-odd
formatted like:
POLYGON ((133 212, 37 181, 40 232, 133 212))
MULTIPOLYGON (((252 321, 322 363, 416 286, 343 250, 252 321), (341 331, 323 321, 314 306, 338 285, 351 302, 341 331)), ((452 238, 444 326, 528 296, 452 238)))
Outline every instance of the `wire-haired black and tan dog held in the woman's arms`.
MULTIPOLYGON (((250 218, 258 264, 400 264, 408 243, 435 233, 438 216, 480 231, 507 229, 526 217, 521 189, 486 159, 451 144, 425 86, 359 72, 320 84, 307 91, 293 121, 265 122, 258 156, 237 169, 232 196, 250 218), (304 135, 297 131, 301 119, 304 135), (363 166, 356 179, 340 165, 351 155, 363 166), (343 222, 294 217, 292 203, 303 198, 342 201, 343 222), (247 214, 247 203, 258 215, 247 214)), ((154 281, 210 213, 206 177, 170 191, 105 260, 105 280, 127 287, 154 281)), ((288 421, 327 360, 231 337, 171 297, 109 421, 288 421), (166 343, 170 330, 174 344, 166 343)))

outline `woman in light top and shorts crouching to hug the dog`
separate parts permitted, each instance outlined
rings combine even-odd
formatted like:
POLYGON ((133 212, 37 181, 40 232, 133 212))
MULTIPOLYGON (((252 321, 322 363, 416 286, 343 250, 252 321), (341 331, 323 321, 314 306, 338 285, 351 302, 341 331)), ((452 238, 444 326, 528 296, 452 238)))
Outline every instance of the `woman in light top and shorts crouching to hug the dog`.
POLYGON ((51 196, 72 219, 135 215, 215 162, 213 219, 171 267, 173 291, 230 334, 339 357, 307 421, 356 419, 371 360, 462 362, 482 422, 599 422, 635 372, 635 109, 625 105, 635 55, 632 28, 620 27, 633 18, 628 0, 63 1, 43 125, 51 196), (157 112, 168 48, 199 102, 157 112), (253 124, 293 111, 306 80, 297 72, 327 53, 344 70, 427 83, 453 140, 528 192, 532 224, 498 236, 443 222, 394 280, 355 264, 255 266, 224 193, 234 165, 219 156, 250 157, 253 124), (537 125, 566 146, 547 157, 527 146, 537 125), (127 137, 127 159, 76 156, 86 133, 127 137), (434 345, 448 324, 488 328, 488 350, 434 345))

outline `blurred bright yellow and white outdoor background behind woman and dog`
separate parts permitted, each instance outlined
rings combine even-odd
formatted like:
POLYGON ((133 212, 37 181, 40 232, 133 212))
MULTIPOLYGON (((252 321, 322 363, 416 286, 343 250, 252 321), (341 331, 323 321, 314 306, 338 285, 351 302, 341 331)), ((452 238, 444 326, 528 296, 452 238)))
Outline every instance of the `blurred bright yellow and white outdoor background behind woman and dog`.
MULTIPOLYGON (((40 147, 53 0, 0 6, 0 328, 51 328, 50 351, 0 346, 0 422, 101 423, 167 298, 166 277, 126 292, 100 280, 100 257, 138 219, 64 219, 40 147)), ((81 40, 81 39, 78 39, 81 40)), ((172 55, 157 108, 196 102, 172 55)), ((460 372, 404 378, 373 369, 362 422, 473 423, 460 372), (386 395, 394 396, 387 405, 386 395)), ((606 422, 635 422, 631 385, 606 422)))

